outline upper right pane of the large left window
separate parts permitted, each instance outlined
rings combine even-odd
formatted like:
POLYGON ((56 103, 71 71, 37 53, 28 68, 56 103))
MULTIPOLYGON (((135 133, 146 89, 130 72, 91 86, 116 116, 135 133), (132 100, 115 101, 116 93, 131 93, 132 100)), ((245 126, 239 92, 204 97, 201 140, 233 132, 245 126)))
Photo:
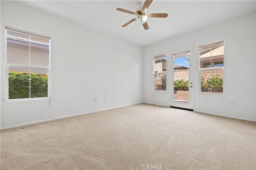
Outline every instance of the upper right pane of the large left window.
POLYGON ((49 41, 48 39, 31 36, 31 65, 49 66, 49 41))

